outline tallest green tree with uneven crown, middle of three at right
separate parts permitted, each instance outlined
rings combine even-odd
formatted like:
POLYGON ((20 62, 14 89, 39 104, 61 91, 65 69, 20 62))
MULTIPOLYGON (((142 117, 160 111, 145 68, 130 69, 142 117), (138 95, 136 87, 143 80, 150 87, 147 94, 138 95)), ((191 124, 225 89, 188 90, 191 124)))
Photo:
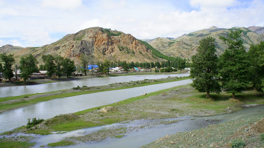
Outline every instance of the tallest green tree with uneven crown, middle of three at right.
POLYGON ((241 93, 248 86, 249 62, 243 42, 239 40, 241 32, 242 30, 230 31, 229 38, 219 36, 219 39, 228 46, 220 56, 221 83, 222 87, 227 89, 226 92, 232 93, 232 98, 235 98, 236 93, 241 93))

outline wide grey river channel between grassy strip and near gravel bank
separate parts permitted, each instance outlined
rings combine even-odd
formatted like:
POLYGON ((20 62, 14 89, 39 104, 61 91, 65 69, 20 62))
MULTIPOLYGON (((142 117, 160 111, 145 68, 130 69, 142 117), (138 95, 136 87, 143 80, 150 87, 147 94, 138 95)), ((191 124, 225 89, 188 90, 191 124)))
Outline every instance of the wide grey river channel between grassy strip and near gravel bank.
MULTIPOLYGON (((143 78, 144 79, 144 78, 143 78)), ((0 114, 0 133, 26 125, 28 118, 48 119, 59 114, 73 113, 85 109, 119 102, 131 97, 151 93, 158 90, 192 83, 192 79, 180 80, 169 83, 154 84, 142 87, 112 90, 99 93, 83 94, 73 97, 52 99, 39 102, 0 114)))

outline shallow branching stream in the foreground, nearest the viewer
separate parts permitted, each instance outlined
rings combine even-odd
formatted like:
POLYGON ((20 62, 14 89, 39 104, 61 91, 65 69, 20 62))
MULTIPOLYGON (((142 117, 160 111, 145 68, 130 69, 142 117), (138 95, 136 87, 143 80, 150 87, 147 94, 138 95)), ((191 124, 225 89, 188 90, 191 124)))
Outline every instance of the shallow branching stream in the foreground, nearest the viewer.
MULTIPOLYGON (((100 129, 107 129, 113 127, 139 127, 146 125, 146 123, 158 122, 158 121, 168 121, 168 120, 178 120, 179 122, 172 123, 172 124, 157 124, 151 127, 146 128, 137 128, 134 131, 128 132, 122 138, 107 138, 106 140, 98 141, 98 142, 85 142, 80 143, 77 145, 67 146, 71 148, 77 147, 86 147, 86 148, 97 148, 97 147, 107 147, 107 148, 116 148, 116 147, 140 147, 142 145, 146 145, 158 138, 161 138, 165 135, 172 135, 176 132, 184 132, 190 131, 194 129, 199 129, 206 127, 211 124, 217 124, 221 122, 226 122, 230 120, 236 120, 240 118, 246 118, 251 116, 259 116, 264 114, 264 106, 255 106, 255 107, 247 107, 242 110, 217 115, 217 116, 210 116, 210 117, 179 117, 179 118, 168 118, 168 119, 158 119, 158 120, 136 120, 129 123, 114 123, 111 125, 105 125, 100 127, 93 127, 93 128, 85 128, 76 131, 66 132, 63 134, 52 134, 52 135, 45 135, 39 136, 35 134, 12 134, 9 136, 36 136, 38 137, 36 140, 32 142, 36 142, 34 147, 40 147, 41 145, 47 145, 48 143, 57 142, 63 140, 65 137, 70 136, 82 136, 86 135, 91 132, 95 132, 100 129)), ((8 136, 7 136, 8 137, 8 136)), ((1 137, 0 137, 1 138, 1 137)))

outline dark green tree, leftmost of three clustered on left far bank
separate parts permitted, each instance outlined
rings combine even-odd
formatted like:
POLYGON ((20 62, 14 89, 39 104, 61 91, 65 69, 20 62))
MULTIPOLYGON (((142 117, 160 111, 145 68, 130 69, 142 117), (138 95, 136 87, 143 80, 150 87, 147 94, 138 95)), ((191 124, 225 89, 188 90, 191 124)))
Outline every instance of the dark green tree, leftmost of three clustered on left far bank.
POLYGON ((54 63, 54 57, 50 54, 48 55, 43 55, 42 60, 44 62, 44 66, 47 69, 47 75, 50 77, 51 79, 51 75, 53 75, 55 73, 55 63, 54 63))

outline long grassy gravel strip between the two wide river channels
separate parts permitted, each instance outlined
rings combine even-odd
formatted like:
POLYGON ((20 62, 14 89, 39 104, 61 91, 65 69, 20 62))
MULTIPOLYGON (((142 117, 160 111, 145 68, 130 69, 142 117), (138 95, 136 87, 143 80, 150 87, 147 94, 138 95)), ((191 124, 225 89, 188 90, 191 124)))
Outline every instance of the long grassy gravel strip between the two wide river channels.
MULTIPOLYGON (((153 84, 174 82, 174 81, 185 80, 185 79, 190 79, 190 77, 180 78, 180 79, 172 80, 172 81, 162 81, 162 82, 139 84, 139 85, 131 86, 131 87, 122 87, 122 88, 113 88, 113 89, 105 89, 105 90, 82 91, 82 92, 57 94, 57 95, 53 95, 53 96, 35 98, 35 99, 28 100, 28 101, 13 102, 10 104, 1 104, 0 105, 0 111, 7 111, 7 110, 16 109, 16 108, 20 108, 20 107, 24 107, 24 106, 29 106, 32 104, 36 104, 38 102, 48 101, 48 100, 56 99, 56 98, 72 97, 72 96, 78 96, 78 95, 82 95, 82 94, 90 94, 90 93, 105 92, 105 91, 111 91, 111 90, 134 88, 134 87, 147 86, 147 85, 153 85, 153 84)), ((55 91, 55 92, 58 92, 58 91, 55 91)), ((50 93, 50 92, 46 92, 46 93, 50 93)), ((38 94, 43 94, 43 93, 38 93, 38 94)), ((34 96, 34 95, 36 95, 36 94, 27 94, 27 95, 22 95, 22 96, 0 98, 0 102, 4 102, 4 101, 8 101, 8 100, 14 100, 14 99, 21 99, 25 96, 30 97, 30 96, 34 96)))

